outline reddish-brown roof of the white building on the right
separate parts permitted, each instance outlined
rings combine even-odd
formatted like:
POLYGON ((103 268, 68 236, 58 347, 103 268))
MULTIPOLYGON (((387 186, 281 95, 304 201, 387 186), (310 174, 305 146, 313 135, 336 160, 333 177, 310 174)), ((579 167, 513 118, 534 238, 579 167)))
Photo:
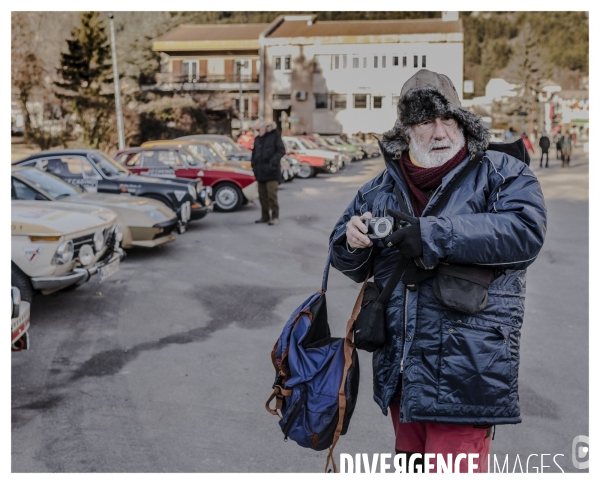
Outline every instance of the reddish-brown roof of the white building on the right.
POLYGON ((316 21, 285 20, 269 38, 281 37, 336 37, 359 35, 412 35, 462 33, 460 20, 338 20, 316 21))

